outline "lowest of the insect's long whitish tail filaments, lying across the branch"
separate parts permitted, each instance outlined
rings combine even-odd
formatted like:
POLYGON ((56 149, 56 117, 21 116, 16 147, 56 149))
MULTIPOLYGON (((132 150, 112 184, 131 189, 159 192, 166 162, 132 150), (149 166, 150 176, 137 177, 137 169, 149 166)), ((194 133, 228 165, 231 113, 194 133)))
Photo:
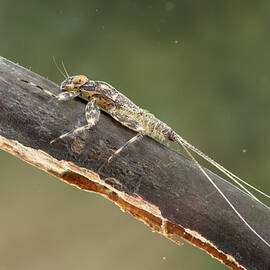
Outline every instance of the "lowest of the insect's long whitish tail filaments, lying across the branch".
MULTIPOLYGON (((268 243, 259 233, 255 231, 249 225, 249 223, 242 217, 242 215, 238 212, 238 210, 233 206, 233 204, 230 202, 230 200, 225 196, 225 194, 221 191, 221 189, 216 185, 216 183, 211 179, 211 177, 206 173, 205 169, 200 165, 200 163, 194 158, 194 156, 190 153, 188 148, 192 145, 187 143, 183 138, 181 138, 179 135, 175 137, 175 141, 179 146, 181 146, 184 151, 188 154, 188 156, 191 158, 191 160, 194 162, 194 164, 199 168, 199 170, 203 173, 203 175, 208 179, 208 181, 214 186, 214 188, 218 191, 218 193, 223 197, 223 199, 227 202, 227 204, 231 207, 231 209, 235 212, 235 214, 242 220, 242 222, 259 238, 261 239, 268 247, 270 247, 270 243, 268 243)), ((195 147, 193 147, 195 148, 195 147)), ((191 148, 190 148, 191 149, 191 148)), ((196 149, 196 148, 195 148, 196 149)), ((193 151, 193 149, 191 149, 193 151)), ((197 149, 198 150, 198 149, 197 149)), ((198 150, 199 153, 202 153, 198 150)), ((196 152, 197 153, 197 152, 196 152)), ((198 153, 198 154, 199 154, 198 153)), ((199 154, 200 155, 200 154, 199 154)), ((206 155, 205 155, 206 156, 206 155)), ((220 165, 221 166, 221 165, 220 165)), ((254 197, 254 196, 252 196, 254 197)), ((258 199, 257 199, 258 200, 258 199)), ((258 200, 259 201, 259 200, 258 200)))

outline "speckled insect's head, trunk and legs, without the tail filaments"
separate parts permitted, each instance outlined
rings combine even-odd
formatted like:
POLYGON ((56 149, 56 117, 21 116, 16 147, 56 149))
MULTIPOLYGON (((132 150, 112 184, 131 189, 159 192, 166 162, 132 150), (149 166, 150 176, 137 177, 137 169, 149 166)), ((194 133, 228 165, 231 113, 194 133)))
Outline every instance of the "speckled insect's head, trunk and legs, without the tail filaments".
POLYGON ((60 88, 67 92, 55 96, 59 100, 68 100, 80 96, 89 101, 85 108, 85 116, 88 124, 61 135, 51 143, 58 139, 63 139, 72 133, 93 127, 99 120, 100 109, 108 112, 122 125, 138 132, 136 136, 120 147, 109 158, 109 161, 129 144, 142 138, 144 135, 149 135, 161 141, 165 139, 176 141, 177 134, 169 126, 151 113, 139 108, 106 82, 90 81, 84 75, 77 75, 63 81, 60 88))

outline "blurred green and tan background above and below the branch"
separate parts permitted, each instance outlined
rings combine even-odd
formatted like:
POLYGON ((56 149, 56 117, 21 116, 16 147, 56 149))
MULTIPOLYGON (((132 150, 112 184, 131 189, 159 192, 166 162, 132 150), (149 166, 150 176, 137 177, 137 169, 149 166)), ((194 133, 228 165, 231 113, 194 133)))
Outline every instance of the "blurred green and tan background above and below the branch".
MULTIPOLYGON (((109 82, 270 193, 269 1, 0 4, 2 56, 109 82)), ((227 269, 3 151, 0 167, 1 270, 227 269)))

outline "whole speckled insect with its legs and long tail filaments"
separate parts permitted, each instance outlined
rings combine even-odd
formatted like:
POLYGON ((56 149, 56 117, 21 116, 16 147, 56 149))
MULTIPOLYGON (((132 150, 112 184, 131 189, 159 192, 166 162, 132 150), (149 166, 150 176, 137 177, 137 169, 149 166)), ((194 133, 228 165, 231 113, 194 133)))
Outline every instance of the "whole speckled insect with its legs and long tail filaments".
POLYGON ((197 153, 199 156, 210 162, 216 168, 218 168, 221 172, 223 172, 226 176, 228 176, 231 180, 233 180, 237 185, 239 185, 244 191, 246 191, 253 199, 259 201, 248 189, 246 189, 241 183, 245 183, 250 188, 253 188, 257 192, 260 192, 264 196, 270 198, 269 195, 263 193, 262 191, 256 189, 250 184, 246 183, 244 180, 239 178, 238 176, 231 173, 229 170, 224 168, 222 165, 205 155, 199 149, 191 145, 185 139, 183 139, 179 134, 177 134, 172 128, 168 125, 157 119, 151 113, 139 108, 135 105, 131 100, 125 97, 122 93, 117 91, 110 84, 102 81, 92 81, 89 80, 84 75, 76 75, 72 77, 67 77, 60 86, 60 89, 64 92, 59 93, 58 95, 54 95, 50 91, 43 89, 42 87, 29 82, 27 80, 19 79, 19 81, 23 81, 25 83, 31 84, 33 86, 38 87, 47 95, 50 95, 58 100, 71 100, 77 96, 88 100, 88 103, 85 107, 85 117, 87 120, 87 124, 73 129, 68 133, 65 133, 58 138, 52 140, 50 143, 54 143, 59 139, 63 139, 66 136, 76 134, 83 130, 90 129, 95 126, 99 120, 100 110, 104 110, 108 112, 114 119, 120 122, 122 125, 128 127, 129 129, 134 130, 137 134, 132 137, 128 142, 126 142, 122 147, 120 147, 114 154, 108 159, 111 159, 118 155, 125 147, 134 143, 138 139, 142 138, 144 135, 149 135, 151 137, 157 138, 159 140, 171 140, 176 142, 184 151, 188 154, 194 164, 198 167, 201 173, 206 177, 206 179, 213 185, 213 187, 218 191, 218 193, 223 197, 223 199, 227 202, 227 204, 231 207, 231 209, 235 212, 235 214, 241 219, 241 221, 268 247, 270 247, 270 243, 268 243, 260 234, 258 234, 249 223, 242 217, 242 215, 238 212, 235 206, 229 201, 229 199, 224 195, 224 193, 220 190, 220 188, 215 184, 215 182, 211 179, 211 177, 207 174, 205 169, 198 163, 198 161, 193 157, 188 149, 197 153), (241 182, 241 183, 240 183, 241 182))

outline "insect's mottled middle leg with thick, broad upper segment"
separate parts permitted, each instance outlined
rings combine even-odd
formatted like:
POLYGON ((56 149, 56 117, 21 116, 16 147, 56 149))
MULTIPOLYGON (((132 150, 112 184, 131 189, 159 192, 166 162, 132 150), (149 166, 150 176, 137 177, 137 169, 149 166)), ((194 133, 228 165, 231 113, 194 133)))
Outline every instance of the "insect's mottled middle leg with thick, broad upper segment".
POLYGON ((58 138, 55 138, 54 140, 52 140, 50 142, 50 144, 56 142, 57 140, 63 139, 64 137, 67 137, 69 135, 76 134, 78 132, 82 132, 84 130, 87 130, 87 129, 93 127, 98 122, 99 116, 100 116, 100 109, 96 105, 96 99, 92 99, 90 102, 88 102, 88 104, 85 107, 85 118, 86 118, 88 124, 84 125, 82 127, 73 129, 73 130, 59 136, 58 138))

